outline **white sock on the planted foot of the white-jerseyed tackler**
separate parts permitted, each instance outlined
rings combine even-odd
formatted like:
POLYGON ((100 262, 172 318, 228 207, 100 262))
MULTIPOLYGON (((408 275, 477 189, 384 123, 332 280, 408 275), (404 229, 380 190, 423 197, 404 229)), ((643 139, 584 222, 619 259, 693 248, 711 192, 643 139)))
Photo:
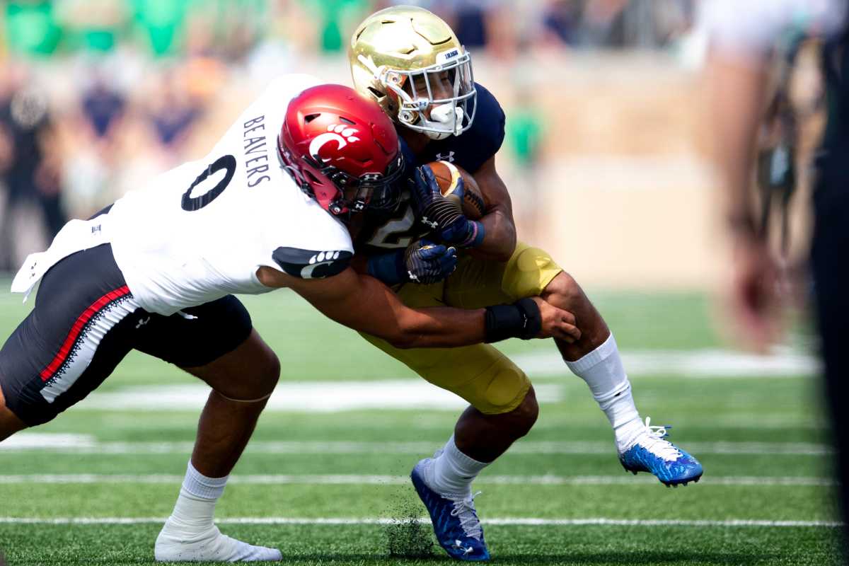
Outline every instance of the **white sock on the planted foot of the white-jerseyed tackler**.
POLYGON ((156 538, 154 556, 159 562, 243 562, 281 560, 280 551, 252 546, 222 535, 212 517, 228 477, 207 478, 188 462, 180 496, 156 538))

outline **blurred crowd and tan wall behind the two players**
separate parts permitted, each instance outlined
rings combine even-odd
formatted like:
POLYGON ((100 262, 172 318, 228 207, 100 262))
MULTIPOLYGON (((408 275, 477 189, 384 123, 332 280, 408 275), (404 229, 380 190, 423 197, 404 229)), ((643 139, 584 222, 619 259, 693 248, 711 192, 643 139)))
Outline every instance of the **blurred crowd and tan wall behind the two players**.
MULTIPOLYGON (((695 0, 406 3, 453 26, 473 53, 475 79, 507 111, 498 166, 526 238, 566 265, 585 264, 585 281, 705 280, 717 259, 706 245, 708 213, 700 212, 711 177, 696 111, 704 42, 695 0), (593 229, 596 213, 606 221, 593 229), (650 216, 658 214, 672 223, 668 230, 650 216), (576 250, 576 238, 592 240, 592 251, 576 250), (681 255, 676 275, 652 272, 623 239, 655 246, 666 263, 681 255)), ((0 272, 14 272, 67 219, 204 155, 273 76, 308 72, 350 84, 351 31, 388 5, 3 3, 0 272)))

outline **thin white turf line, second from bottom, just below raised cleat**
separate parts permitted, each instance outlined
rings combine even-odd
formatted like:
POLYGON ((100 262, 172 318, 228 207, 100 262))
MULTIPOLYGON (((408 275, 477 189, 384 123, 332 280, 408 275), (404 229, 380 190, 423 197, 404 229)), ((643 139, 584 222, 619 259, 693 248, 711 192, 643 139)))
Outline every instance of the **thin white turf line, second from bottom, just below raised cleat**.
MULTIPOLYGON (((363 474, 245 474, 230 476, 230 484, 245 485, 406 485, 405 475, 363 474)), ((0 475, 0 484, 180 484, 183 476, 177 474, 10 474, 0 475)), ((817 477, 763 477, 728 476, 707 477, 700 480, 707 485, 749 486, 813 486, 829 487, 835 480, 817 477)), ((634 477, 622 475, 492 475, 478 479, 481 485, 633 485, 656 484, 649 474, 634 477)))

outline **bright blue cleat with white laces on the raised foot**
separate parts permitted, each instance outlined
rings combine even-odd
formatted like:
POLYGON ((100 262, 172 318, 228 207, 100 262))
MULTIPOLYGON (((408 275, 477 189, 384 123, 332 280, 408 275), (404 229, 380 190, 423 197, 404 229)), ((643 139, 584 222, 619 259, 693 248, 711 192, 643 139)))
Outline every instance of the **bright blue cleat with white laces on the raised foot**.
POLYGON ((699 481, 702 474, 699 461, 666 440, 666 430, 672 427, 652 427, 650 422, 646 417, 645 432, 619 455, 622 468, 635 475, 637 472, 655 474, 666 487, 699 481))

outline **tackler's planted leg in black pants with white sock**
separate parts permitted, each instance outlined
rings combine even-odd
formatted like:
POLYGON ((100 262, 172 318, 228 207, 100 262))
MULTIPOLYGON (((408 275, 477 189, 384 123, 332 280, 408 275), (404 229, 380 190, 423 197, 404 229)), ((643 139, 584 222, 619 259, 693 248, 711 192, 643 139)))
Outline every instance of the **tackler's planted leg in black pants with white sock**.
POLYGON ((222 535, 213 523, 228 474, 250 440, 279 376, 279 361, 233 296, 144 326, 138 350, 203 379, 212 388, 171 516, 156 539, 158 561, 280 560, 279 551, 222 535))

